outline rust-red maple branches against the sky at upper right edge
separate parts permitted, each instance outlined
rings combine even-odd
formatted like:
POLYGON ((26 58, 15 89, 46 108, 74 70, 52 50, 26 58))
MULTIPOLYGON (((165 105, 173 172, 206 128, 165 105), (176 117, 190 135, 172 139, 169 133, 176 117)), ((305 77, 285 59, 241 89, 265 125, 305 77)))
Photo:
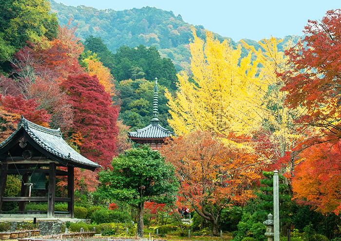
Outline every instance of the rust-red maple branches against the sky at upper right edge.
MULTIPOLYGON (((309 20, 303 41, 285 54, 292 67, 282 73, 290 107, 306 108, 304 125, 324 127, 341 136, 341 10, 321 22, 309 20)), ((280 75, 282 75, 280 74, 280 75)))

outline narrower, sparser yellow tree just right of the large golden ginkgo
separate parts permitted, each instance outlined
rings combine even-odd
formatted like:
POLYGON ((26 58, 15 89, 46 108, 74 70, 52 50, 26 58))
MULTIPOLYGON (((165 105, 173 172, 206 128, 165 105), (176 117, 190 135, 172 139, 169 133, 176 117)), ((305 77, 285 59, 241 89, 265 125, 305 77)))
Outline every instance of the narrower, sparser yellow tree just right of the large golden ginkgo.
POLYGON ((294 125, 294 118, 303 114, 303 110, 292 110, 284 105, 286 92, 282 91, 284 81, 278 73, 284 72, 287 57, 284 52, 278 51, 278 44, 282 42, 274 37, 259 41, 261 48, 255 50, 253 46, 244 47, 257 57, 260 63, 259 79, 265 89, 259 89, 261 104, 254 103, 255 111, 263 117, 263 129, 269 140, 278 150, 275 159, 283 157, 285 152, 294 146, 294 143, 302 138, 294 125))

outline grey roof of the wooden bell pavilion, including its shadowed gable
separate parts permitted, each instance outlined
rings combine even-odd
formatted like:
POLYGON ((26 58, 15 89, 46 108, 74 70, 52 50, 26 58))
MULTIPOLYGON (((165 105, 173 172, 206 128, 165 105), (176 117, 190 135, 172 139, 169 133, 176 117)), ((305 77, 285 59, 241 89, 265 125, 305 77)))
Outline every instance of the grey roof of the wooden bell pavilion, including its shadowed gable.
MULTIPOLYGON (((8 150, 13 142, 19 142, 19 137, 27 133, 27 141, 43 151, 49 158, 65 166, 74 166, 94 171, 100 167, 97 163, 77 153, 62 137, 60 129, 49 129, 26 120, 23 116, 17 130, 0 143, 0 154, 8 150), (38 145, 37 145, 38 144, 38 145)), ((25 137, 27 136, 25 135, 25 137)))

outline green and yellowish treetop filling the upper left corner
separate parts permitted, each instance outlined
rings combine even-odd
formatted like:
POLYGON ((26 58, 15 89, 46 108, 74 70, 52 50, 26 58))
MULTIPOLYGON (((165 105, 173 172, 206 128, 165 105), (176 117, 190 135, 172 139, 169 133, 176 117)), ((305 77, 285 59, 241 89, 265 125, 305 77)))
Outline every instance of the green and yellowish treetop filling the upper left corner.
POLYGON ((49 1, 0 0, 0 6, 0 69, 27 41, 57 36, 57 17, 51 14, 49 1))

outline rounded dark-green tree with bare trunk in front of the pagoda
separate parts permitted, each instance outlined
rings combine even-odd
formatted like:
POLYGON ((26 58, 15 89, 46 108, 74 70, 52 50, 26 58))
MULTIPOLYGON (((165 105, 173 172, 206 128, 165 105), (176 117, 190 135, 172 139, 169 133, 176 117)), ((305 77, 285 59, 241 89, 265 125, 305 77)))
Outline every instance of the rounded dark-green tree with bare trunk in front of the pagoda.
POLYGON ((123 201, 137 209, 137 235, 143 237, 144 204, 173 201, 178 188, 174 167, 148 145, 114 158, 113 171, 99 173, 101 198, 123 201))

